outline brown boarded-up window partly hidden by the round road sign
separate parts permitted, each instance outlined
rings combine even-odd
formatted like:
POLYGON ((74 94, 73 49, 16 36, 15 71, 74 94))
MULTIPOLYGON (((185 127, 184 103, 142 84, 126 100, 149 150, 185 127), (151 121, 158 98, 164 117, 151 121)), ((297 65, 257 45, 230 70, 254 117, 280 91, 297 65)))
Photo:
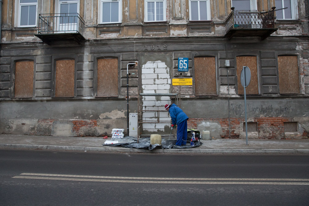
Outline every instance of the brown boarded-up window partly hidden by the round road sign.
POLYGON ((240 74, 243 66, 248 66, 251 72, 251 80, 249 85, 246 87, 247 95, 258 95, 259 94, 259 84, 257 79, 257 58, 246 56, 246 57, 236 57, 236 66, 237 66, 237 85, 238 85, 238 94, 243 95, 243 86, 240 82, 240 74))

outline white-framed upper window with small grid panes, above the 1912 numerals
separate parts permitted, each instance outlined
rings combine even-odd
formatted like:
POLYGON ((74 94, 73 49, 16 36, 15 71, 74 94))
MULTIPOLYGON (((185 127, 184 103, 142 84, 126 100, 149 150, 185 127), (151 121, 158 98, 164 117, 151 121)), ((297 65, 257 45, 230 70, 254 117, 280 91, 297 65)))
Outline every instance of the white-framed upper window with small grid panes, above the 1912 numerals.
POLYGON ((166 21, 166 0, 145 0, 145 22, 166 21))

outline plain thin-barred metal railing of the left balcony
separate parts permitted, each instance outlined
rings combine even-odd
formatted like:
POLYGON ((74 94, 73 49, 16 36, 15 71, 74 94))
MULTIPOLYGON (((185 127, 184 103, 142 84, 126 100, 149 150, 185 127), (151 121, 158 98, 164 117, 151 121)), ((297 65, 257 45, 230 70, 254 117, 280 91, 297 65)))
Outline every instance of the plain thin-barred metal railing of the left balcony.
POLYGON ((83 34, 85 21, 78 13, 39 14, 38 34, 83 34))

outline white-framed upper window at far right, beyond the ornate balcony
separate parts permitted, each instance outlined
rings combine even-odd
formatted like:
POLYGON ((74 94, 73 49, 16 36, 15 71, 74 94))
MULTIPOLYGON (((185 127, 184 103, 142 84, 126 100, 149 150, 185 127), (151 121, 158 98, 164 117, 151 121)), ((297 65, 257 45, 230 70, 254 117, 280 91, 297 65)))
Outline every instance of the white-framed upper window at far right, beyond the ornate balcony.
POLYGON ((296 0, 275 0, 277 19, 297 19, 297 1, 296 0))

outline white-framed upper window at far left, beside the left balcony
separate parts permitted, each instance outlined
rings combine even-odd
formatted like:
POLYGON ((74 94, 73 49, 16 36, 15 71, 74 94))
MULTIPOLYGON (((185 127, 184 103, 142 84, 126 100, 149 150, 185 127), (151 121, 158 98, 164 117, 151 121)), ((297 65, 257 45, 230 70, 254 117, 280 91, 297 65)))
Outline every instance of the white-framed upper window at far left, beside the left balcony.
POLYGON ((35 27, 38 0, 18 0, 18 27, 35 27))

